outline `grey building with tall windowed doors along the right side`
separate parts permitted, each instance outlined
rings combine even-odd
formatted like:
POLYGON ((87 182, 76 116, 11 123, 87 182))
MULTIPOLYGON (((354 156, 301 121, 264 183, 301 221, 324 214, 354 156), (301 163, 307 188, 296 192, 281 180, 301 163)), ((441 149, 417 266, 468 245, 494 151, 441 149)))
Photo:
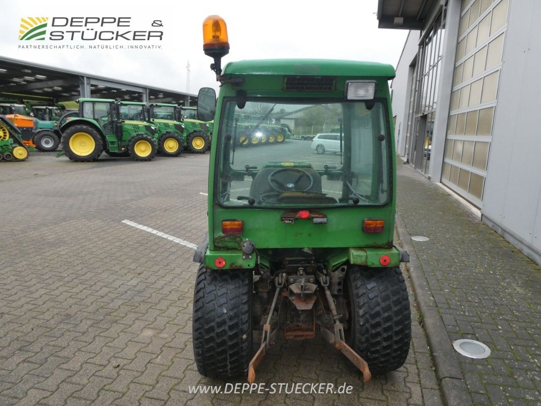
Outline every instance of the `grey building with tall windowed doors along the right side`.
POLYGON ((379 0, 410 29, 393 80, 397 152, 541 263, 541 2, 379 0))

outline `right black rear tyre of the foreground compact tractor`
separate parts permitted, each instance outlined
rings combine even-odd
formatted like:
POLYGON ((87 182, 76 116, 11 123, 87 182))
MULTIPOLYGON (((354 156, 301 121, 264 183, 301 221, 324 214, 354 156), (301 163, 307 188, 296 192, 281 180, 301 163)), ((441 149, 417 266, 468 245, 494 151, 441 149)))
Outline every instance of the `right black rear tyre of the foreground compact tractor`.
POLYGON ((404 365, 411 341, 411 313, 400 268, 346 271, 349 320, 346 342, 370 367, 372 374, 404 365))

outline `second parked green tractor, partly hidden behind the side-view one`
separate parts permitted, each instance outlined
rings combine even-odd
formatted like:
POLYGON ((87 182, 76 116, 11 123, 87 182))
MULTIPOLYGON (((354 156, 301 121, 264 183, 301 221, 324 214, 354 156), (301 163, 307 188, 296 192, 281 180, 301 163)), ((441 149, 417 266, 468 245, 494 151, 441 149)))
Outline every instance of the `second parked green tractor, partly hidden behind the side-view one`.
POLYGON ((120 118, 123 120, 147 121, 156 127, 154 141, 158 152, 164 156, 179 156, 182 153, 184 126, 174 120, 153 119, 152 112, 158 107, 143 102, 119 102, 120 118))

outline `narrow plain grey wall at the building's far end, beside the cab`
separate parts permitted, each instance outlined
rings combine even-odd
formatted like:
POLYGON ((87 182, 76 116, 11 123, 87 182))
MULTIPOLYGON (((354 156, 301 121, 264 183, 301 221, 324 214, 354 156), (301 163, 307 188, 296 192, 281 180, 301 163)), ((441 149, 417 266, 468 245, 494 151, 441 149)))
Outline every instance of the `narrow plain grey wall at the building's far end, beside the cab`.
POLYGON ((413 70, 417 59, 418 42, 420 31, 410 31, 402 50, 402 55, 397 65, 397 77, 392 83, 393 90, 393 115, 397 117, 394 125, 394 140, 397 154, 406 155, 406 138, 408 129, 408 112, 414 93, 411 92, 413 83, 413 70))

